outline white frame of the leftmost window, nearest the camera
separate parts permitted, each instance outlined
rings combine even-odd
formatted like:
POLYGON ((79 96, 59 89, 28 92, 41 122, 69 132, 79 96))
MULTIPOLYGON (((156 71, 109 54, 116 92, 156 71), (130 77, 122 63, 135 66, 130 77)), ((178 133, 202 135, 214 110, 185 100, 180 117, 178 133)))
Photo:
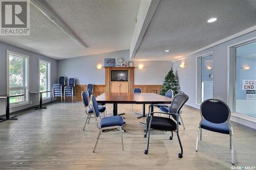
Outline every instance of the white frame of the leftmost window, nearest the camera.
POLYGON ((14 107, 19 107, 19 106, 23 106, 23 105, 27 105, 29 104, 29 56, 28 55, 25 55, 25 54, 20 54, 20 53, 16 53, 16 52, 13 52, 13 51, 9 51, 7 50, 6 51, 6 93, 7 94, 10 94, 10 90, 24 90, 25 92, 25 96, 24 96, 24 99, 25 101, 23 102, 18 102, 18 103, 10 103, 10 108, 14 108, 14 107), (23 63, 23 66, 24 66, 24 82, 23 82, 23 87, 11 87, 10 88, 10 78, 9 78, 9 74, 10 74, 10 68, 9 68, 9 57, 10 57, 10 54, 11 55, 14 55, 14 56, 18 56, 18 57, 22 57, 24 58, 24 63, 23 63))

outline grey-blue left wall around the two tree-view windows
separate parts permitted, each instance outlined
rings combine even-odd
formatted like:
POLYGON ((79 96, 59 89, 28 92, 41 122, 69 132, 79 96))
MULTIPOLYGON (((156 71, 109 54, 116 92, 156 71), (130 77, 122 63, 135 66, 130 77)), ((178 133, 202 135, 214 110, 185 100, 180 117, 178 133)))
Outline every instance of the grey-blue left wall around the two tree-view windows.
MULTIPOLYGON (((18 48, 18 47, 0 42, 0 94, 7 93, 6 91, 7 90, 7 87, 6 87, 7 85, 6 51, 7 50, 29 56, 29 86, 30 86, 29 90, 30 91, 38 90, 38 59, 51 62, 51 84, 56 82, 57 80, 57 61, 56 60, 24 50, 22 48, 18 48)), ((37 94, 29 94, 29 95, 30 95, 30 101, 32 101, 32 104, 12 108, 10 112, 38 105, 39 102, 38 102, 37 94)), ((50 102, 50 101, 51 100, 46 100, 44 102, 50 102)), ((0 99, 0 115, 3 115, 3 114, 5 114, 5 100, 0 99)))

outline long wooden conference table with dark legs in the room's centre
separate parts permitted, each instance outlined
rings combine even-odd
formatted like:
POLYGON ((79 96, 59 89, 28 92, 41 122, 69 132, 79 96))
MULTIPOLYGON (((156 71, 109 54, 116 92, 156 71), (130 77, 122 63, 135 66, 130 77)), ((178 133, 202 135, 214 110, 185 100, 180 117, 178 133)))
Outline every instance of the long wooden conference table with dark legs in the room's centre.
MULTIPOLYGON (((113 103, 113 115, 117 115, 117 104, 142 104, 143 114, 146 117, 145 104, 170 104, 172 99, 156 93, 102 93, 96 98, 98 103, 113 103)), ((152 112, 154 111, 152 108, 152 112)))

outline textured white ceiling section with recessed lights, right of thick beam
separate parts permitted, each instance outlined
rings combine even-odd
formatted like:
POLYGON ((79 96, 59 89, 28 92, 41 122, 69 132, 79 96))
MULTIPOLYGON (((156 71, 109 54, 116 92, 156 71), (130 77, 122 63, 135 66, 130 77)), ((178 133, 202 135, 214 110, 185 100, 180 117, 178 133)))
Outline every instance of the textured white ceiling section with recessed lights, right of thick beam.
POLYGON ((255 26, 255 18, 255 0, 161 0, 134 59, 181 58, 255 26), (207 23, 211 17, 218 20, 207 23))

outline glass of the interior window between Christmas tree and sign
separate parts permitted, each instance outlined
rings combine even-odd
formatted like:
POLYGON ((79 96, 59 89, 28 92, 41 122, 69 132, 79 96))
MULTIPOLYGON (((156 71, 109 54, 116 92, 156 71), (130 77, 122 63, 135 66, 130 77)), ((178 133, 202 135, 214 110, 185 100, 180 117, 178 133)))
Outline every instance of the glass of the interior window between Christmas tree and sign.
POLYGON ((212 99, 214 94, 213 56, 212 54, 197 59, 197 103, 212 99))

